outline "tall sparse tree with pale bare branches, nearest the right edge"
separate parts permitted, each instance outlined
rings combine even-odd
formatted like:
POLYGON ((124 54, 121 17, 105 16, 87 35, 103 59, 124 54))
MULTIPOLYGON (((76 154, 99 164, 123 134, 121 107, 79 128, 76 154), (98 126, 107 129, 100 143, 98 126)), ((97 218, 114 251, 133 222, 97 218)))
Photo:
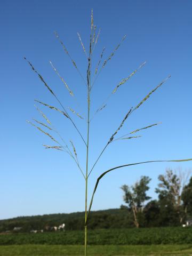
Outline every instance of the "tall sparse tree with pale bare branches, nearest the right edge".
POLYGON ((171 213, 171 209, 175 211, 178 214, 180 223, 183 222, 186 215, 181 195, 188 177, 189 172, 187 171, 179 169, 173 172, 171 169, 166 169, 164 175, 159 175, 158 180, 160 182, 158 183, 158 188, 156 188, 161 207, 167 207, 169 213, 171 213))

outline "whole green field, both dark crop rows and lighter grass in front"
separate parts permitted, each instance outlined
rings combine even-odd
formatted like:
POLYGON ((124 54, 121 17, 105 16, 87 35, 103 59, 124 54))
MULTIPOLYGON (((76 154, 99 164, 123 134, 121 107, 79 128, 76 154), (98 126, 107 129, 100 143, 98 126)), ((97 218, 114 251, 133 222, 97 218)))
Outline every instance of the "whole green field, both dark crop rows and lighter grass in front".
MULTIPOLYGON (((83 231, 0 235, 0 256, 84 255, 83 231)), ((88 255, 191 255, 192 228, 95 229, 88 255)))

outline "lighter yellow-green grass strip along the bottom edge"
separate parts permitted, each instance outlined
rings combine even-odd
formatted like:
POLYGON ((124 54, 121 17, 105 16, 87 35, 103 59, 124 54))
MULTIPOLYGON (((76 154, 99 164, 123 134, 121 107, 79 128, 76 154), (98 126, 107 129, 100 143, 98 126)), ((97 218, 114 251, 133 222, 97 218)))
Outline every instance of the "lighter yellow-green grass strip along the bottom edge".
MULTIPOLYGON (((84 255, 82 245, 1 245, 0 256, 84 255)), ((92 245, 88 255, 192 255, 192 245, 92 245)))

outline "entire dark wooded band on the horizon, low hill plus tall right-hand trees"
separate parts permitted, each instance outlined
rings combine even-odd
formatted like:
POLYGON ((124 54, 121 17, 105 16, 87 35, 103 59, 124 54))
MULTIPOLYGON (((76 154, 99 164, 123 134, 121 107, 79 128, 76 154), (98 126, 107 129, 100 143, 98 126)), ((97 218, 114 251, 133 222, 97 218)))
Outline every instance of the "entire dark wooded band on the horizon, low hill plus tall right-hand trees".
MULTIPOLYGON (((181 226, 192 220, 192 177, 189 172, 167 169, 159 175, 158 199, 148 195, 151 179, 142 176, 134 185, 123 185, 125 205, 119 209, 92 211, 89 229, 181 226)), ((22 227, 21 232, 45 230, 45 227, 65 223, 66 230, 84 229, 84 212, 46 214, 0 220, 0 232, 22 227)))

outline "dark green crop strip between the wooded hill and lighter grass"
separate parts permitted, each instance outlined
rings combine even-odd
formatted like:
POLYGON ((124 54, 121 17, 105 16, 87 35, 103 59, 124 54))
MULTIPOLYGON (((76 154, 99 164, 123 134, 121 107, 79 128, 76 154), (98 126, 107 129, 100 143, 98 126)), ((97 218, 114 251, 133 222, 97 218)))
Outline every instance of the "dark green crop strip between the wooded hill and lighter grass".
MULTIPOLYGON (((1 234, 0 245, 83 245, 84 232, 1 234)), ((95 229, 88 232, 89 245, 192 244, 192 228, 95 229)))

